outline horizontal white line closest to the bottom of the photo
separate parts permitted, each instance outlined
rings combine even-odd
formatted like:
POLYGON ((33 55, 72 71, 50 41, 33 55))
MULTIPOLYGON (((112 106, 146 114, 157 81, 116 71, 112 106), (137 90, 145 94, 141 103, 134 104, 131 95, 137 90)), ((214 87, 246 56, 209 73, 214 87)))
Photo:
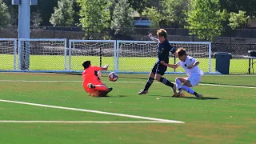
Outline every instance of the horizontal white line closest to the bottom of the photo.
POLYGON ((0 123, 176 123, 162 121, 14 121, 0 120, 0 123))

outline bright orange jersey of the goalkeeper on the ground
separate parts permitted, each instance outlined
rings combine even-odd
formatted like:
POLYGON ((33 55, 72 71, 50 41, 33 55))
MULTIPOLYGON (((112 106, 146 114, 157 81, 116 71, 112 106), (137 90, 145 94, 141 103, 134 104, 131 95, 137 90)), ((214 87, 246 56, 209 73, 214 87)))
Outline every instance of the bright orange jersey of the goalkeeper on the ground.
POLYGON ((99 66, 89 66, 87 69, 83 70, 82 78, 83 85, 86 86, 87 83, 92 83, 94 85, 102 84, 100 80, 98 80, 98 76, 95 75, 95 71, 101 70, 102 68, 99 66))

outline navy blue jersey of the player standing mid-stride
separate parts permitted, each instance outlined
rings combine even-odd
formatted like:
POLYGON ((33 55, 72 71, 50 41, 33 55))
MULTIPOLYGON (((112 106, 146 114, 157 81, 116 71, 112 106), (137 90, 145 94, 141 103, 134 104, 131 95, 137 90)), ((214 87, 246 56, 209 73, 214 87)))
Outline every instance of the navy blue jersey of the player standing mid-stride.
POLYGON ((164 42, 158 44, 158 63, 164 61, 169 63, 169 51, 174 54, 176 49, 170 45, 169 41, 166 39, 164 42))

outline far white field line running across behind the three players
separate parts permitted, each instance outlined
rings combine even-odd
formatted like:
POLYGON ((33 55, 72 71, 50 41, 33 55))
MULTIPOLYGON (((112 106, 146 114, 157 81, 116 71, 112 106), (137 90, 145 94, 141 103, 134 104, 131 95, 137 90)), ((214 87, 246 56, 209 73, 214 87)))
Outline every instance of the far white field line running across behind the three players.
MULTIPOLYGON (((82 81, 26 81, 26 80, 0 80, 0 82, 82 82, 82 81)), ((108 83, 108 82, 105 82, 108 83)), ((145 83, 145 82, 111 82, 111 83, 145 83)), ((157 82, 161 83, 161 82, 157 82)), ((256 89, 254 86, 232 86, 232 85, 222 85, 222 84, 208 84, 208 83, 200 83, 202 86, 223 86, 223 87, 236 87, 236 88, 248 88, 248 89, 256 89)))

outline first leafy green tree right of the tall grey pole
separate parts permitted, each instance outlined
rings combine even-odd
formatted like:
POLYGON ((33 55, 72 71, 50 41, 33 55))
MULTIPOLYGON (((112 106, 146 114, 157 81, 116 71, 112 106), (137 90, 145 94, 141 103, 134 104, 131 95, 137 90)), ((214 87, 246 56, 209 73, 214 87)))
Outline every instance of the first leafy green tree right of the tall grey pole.
POLYGON ((58 7, 54 7, 50 23, 54 26, 71 26, 74 22, 73 0, 59 0, 58 7))

